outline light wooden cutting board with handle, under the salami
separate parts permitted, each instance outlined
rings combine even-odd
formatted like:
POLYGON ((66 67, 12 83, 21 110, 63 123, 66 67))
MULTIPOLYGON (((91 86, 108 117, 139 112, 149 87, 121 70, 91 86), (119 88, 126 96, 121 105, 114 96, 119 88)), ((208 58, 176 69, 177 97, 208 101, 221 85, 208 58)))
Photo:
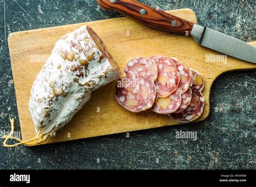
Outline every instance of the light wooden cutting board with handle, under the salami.
MULTIPOLYGON (((190 9, 168 12, 197 22, 195 13, 190 9)), ((126 17, 12 33, 8 42, 23 140, 35 137, 28 107, 33 81, 60 36, 85 24, 90 25, 98 33, 122 71, 127 61, 134 57, 159 54, 177 57, 187 67, 203 74, 205 108, 197 121, 204 120, 209 114, 209 95, 215 78, 226 71, 256 68, 255 64, 229 56, 226 63, 214 62, 213 59, 212 62, 208 62, 207 56, 223 54, 199 46, 191 37, 159 31, 126 17)), ((252 42, 252 45, 256 45, 256 42, 252 42)), ((93 92, 89 102, 73 117, 71 123, 44 143, 179 124, 167 115, 152 111, 132 113, 125 110, 114 98, 115 84, 116 81, 93 92)))

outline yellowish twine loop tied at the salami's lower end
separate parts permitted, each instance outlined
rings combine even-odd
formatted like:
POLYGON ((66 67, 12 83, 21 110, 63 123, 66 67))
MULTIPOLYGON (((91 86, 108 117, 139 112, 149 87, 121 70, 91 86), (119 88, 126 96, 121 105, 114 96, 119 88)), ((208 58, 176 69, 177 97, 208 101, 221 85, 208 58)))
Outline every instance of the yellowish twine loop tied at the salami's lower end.
POLYGON ((26 140, 26 141, 22 141, 21 139, 18 139, 16 137, 12 136, 12 134, 14 134, 14 118, 10 118, 10 122, 11 122, 10 134, 3 136, 3 138, 5 138, 5 140, 3 142, 4 147, 15 147, 15 146, 18 146, 18 145, 21 145, 21 144, 24 144, 24 145, 27 145, 27 146, 33 146, 33 145, 37 145, 39 143, 44 142, 48 138, 48 136, 44 137, 44 135, 40 133, 36 138, 32 138, 32 139, 29 139, 29 140, 26 140), (9 139, 17 140, 17 141, 19 141, 19 143, 15 143, 13 145, 8 145, 8 144, 6 144, 6 142, 9 139), (32 142, 30 142, 30 141, 32 141, 32 142))

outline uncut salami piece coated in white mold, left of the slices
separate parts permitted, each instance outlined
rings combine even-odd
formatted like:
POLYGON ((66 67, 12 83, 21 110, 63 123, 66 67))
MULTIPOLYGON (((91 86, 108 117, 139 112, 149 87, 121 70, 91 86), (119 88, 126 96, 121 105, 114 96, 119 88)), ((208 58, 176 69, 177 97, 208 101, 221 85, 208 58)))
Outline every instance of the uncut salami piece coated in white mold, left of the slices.
POLYGON ((89 26, 60 38, 33 83, 29 110, 37 137, 54 136, 90 99, 116 80, 119 67, 89 26))

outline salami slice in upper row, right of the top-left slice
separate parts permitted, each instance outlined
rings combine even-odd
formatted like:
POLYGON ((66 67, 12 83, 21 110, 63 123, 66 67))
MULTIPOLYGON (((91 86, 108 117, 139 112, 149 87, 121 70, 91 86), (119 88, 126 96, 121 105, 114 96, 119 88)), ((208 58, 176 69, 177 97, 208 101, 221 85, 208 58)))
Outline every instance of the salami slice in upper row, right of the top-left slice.
POLYGON ((158 77, 155 82, 158 97, 170 96, 178 88, 180 76, 172 60, 165 56, 152 56, 157 64, 158 77))

